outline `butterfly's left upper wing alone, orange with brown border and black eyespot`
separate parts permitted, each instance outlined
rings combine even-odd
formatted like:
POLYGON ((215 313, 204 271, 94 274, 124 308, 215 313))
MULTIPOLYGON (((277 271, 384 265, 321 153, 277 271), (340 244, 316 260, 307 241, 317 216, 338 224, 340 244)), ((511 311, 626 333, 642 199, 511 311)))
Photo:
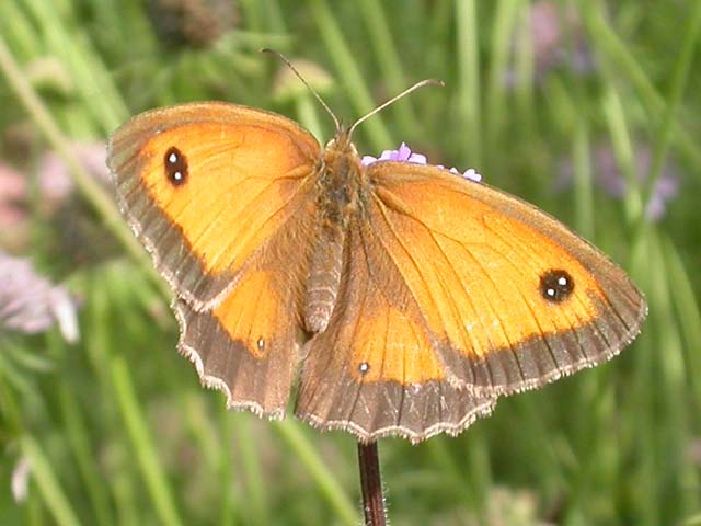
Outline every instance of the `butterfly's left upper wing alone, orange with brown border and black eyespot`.
POLYGON ((157 268, 204 310, 297 209, 319 155, 292 121, 204 102, 134 117, 112 137, 107 164, 157 268))

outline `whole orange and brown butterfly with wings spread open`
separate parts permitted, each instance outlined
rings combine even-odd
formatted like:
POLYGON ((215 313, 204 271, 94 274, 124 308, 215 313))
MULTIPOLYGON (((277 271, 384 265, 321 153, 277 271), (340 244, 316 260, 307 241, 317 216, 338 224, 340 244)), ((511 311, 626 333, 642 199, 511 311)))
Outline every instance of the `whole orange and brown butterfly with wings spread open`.
POLYGON ((538 208, 446 169, 365 165, 350 128, 225 102, 111 138, 119 208, 168 281, 179 350, 233 409, 367 443, 456 435, 497 397, 616 355, 642 294, 538 208))

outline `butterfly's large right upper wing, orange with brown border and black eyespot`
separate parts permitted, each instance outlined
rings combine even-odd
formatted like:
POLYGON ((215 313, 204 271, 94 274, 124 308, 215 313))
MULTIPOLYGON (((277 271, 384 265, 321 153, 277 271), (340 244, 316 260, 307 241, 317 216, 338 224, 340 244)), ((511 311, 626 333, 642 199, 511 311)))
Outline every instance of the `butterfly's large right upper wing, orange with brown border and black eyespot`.
POLYGON ((639 333, 641 293, 543 211, 435 167, 378 162, 368 176, 368 221, 452 384, 537 387, 608 359, 639 333))

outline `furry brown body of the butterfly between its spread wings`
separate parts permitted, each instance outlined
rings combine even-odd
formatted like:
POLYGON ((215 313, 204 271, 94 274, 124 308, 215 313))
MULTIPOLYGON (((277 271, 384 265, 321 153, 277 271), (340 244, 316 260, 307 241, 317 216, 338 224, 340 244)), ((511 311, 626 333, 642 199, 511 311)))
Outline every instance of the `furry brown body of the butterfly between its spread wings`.
POLYGON ((313 333, 326 329, 336 304, 346 232, 360 207, 365 169, 355 146, 338 136, 326 145, 315 175, 318 227, 303 305, 304 325, 313 333))

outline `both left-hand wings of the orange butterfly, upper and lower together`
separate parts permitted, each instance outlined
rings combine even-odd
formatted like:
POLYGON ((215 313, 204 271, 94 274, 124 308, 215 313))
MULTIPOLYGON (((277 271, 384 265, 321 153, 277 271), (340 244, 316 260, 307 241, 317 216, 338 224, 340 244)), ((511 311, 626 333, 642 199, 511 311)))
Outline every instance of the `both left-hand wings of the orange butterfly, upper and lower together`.
POLYGON ((283 418, 303 340, 315 139, 226 103, 141 114, 110 142, 117 197, 177 297, 179 348, 232 408, 283 418))

